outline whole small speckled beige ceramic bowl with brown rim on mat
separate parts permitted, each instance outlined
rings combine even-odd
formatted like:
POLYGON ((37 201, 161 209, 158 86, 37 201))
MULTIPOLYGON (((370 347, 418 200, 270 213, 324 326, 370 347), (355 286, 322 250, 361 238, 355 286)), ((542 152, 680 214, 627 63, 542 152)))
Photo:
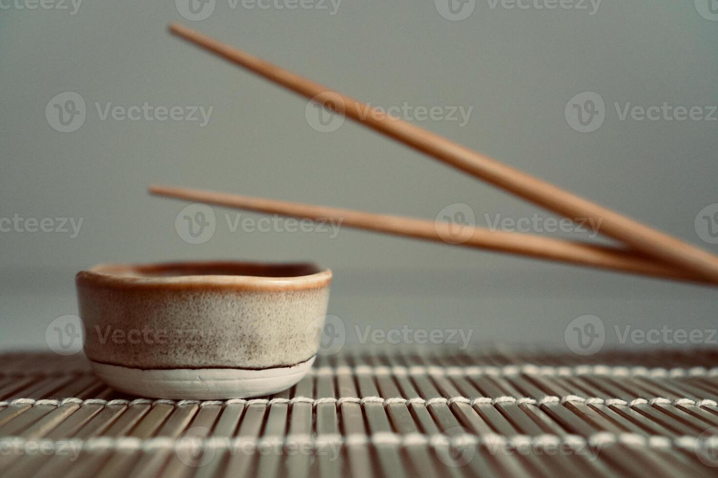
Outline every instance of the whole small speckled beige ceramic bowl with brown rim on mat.
POLYGON ((331 279, 314 264, 101 264, 75 277, 85 355, 137 396, 276 393, 314 362, 331 279))

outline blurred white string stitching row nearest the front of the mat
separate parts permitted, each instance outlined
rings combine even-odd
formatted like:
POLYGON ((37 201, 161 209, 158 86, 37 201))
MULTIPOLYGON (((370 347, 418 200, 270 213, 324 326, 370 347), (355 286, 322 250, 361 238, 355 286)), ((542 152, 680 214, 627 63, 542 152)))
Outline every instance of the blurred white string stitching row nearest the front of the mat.
MULTIPOLYGON (((98 436, 90 439, 67 439, 67 440, 50 440, 50 439, 28 439, 22 436, 5 436, 0 437, 0 446, 4 449, 10 448, 19 451, 25 449, 26 446, 32 446, 34 450, 42 449, 43 453, 57 452, 68 453, 75 451, 98 451, 106 449, 121 450, 174 450, 191 449, 230 449, 241 451, 255 451, 261 449, 266 451, 268 447, 277 446, 275 448, 280 454, 284 452, 285 446, 308 446, 315 451, 322 451, 326 446, 432 446, 445 448, 449 445, 458 446, 487 446, 495 451, 518 450, 522 453, 540 452, 546 450, 556 450, 557 446, 567 446, 569 449, 577 453, 587 453, 590 451, 600 451, 602 446, 623 445, 633 447, 645 447, 649 449, 684 449, 688 451, 716 450, 718 449, 718 436, 709 436, 701 438, 697 436, 680 436, 671 439, 668 436, 651 435, 645 436, 640 434, 612 434, 609 432, 600 432, 589 436, 578 435, 554 435, 542 434, 538 436, 514 435, 504 436, 498 434, 476 435, 476 434, 458 434, 448 436, 444 434, 396 434, 390 431, 382 431, 376 434, 350 434, 341 436, 339 434, 319 434, 311 436, 309 434, 296 434, 288 436, 264 436, 264 437, 223 437, 210 436, 204 440, 197 441, 195 437, 186 436, 179 439, 173 439, 169 436, 157 436, 150 439, 140 439, 136 437, 111 437, 98 436)), ((271 448, 270 448, 271 449, 271 448)), ((29 448, 28 448, 29 451, 29 448)))

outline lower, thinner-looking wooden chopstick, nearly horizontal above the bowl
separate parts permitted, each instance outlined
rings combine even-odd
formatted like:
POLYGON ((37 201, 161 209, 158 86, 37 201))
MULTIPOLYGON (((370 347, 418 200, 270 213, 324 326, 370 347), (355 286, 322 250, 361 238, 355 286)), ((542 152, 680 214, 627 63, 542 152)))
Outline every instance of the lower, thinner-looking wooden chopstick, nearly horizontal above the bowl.
MULTIPOLYGON (((386 232, 396 236, 427 239, 435 242, 447 242, 448 222, 426 221, 402 216, 388 216, 364 211, 352 211, 312 204, 300 204, 289 201, 276 201, 238 194, 216 193, 199 189, 174 188, 169 186, 150 186, 149 192, 157 196, 166 196, 205 204, 218 204, 234 209, 258 211, 269 214, 281 214, 312 220, 333 220, 340 226, 348 226, 367 231, 386 232)), ((491 231, 479 227, 469 228, 468 234, 462 234, 463 242, 456 245, 489 249, 497 252, 520 254, 538 259, 551 259, 569 264, 600 267, 622 272, 679 279, 691 282, 713 283, 699 274, 691 274, 669 264, 657 262, 651 257, 643 257, 634 251, 612 249, 581 242, 570 242, 551 237, 534 236, 515 232, 491 231)))

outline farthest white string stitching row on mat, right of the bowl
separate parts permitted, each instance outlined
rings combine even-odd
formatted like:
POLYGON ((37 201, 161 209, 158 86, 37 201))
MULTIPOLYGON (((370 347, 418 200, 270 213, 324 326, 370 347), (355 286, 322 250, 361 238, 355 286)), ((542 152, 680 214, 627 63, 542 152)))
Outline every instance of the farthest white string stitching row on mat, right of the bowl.
POLYGON ((643 366, 627 367, 623 365, 468 365, 465 367, 437 365, 411 365, 405 367, 394 365, 370 366, 357 365, 354 368, 348 365, 330 367, 322 365, 309 370, 314 376, 332 375, 394 375, 394 376, 415 376, 415 375, 436 375, 436 376, 612 376, 612 377, 653 377, 653 378, 681 378, 681 377, 715 377, 718 376, 718 367, 692 367, 692 368, 648 368, 643 366))

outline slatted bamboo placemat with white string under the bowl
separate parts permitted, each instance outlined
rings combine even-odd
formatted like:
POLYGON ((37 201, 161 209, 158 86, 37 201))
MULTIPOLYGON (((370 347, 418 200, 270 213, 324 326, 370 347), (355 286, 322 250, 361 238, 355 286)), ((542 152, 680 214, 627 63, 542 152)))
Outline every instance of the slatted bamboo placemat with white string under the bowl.
POLYGON ((355 348, 291 390, 147 400, 0 355, 12 477, 715 476, 718 353, 355 348))

